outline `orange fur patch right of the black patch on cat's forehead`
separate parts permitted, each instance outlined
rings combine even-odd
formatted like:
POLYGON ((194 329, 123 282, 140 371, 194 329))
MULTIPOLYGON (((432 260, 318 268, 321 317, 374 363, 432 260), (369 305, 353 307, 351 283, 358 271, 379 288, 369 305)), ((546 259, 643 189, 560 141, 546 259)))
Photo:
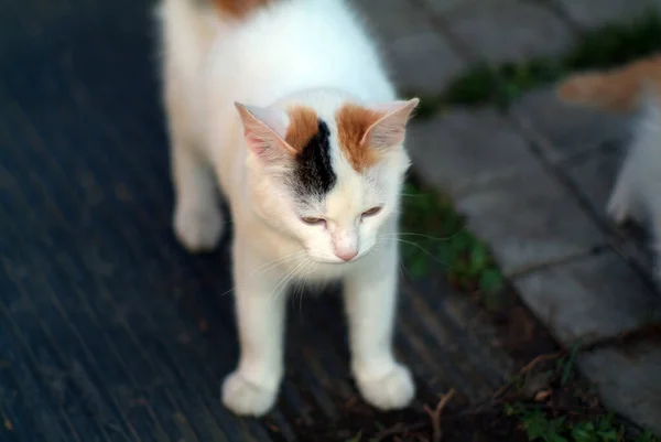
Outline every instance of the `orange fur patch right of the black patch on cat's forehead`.
POLYGON ((379 161, 378 152, 365 145, 362 138, 367 130, 382 117, 384 115, 381 112, 351 104, 344 105, 335 115, 339 148, 358 172, 379 161))

